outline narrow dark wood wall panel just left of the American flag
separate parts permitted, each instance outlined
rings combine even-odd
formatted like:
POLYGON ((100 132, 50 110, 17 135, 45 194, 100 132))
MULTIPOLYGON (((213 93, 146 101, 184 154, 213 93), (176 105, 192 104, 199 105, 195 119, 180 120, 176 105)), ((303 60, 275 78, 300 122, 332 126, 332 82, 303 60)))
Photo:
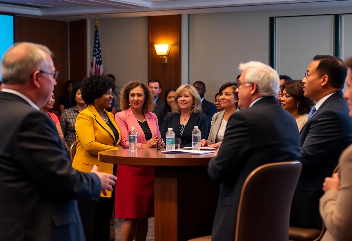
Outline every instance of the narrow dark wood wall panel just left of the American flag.
POLYGON ((87 77, 87 20, 70 21, 70 79, 87 77))

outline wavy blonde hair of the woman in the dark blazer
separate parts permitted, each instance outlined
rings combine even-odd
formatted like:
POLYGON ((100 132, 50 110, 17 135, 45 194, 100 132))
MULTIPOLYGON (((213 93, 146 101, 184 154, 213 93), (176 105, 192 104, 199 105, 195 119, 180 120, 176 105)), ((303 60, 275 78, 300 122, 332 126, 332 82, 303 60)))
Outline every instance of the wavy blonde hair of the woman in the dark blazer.
POLYGON ((200 98, 197 89, 193 85, 181 85, 176 89, 174 102, 172 103, 172 106, 171 106, 172 112, 174 113, 181 112, 180 106, 178 106, 178 103, 177 103, 177 99, 178 99, 178 95, 182 94, 184 91, 189 91, 189 93, 193 97, 194 105, 192 106, 192 109, 191 109, 192 114, 202 112, 202 99, 200 98))

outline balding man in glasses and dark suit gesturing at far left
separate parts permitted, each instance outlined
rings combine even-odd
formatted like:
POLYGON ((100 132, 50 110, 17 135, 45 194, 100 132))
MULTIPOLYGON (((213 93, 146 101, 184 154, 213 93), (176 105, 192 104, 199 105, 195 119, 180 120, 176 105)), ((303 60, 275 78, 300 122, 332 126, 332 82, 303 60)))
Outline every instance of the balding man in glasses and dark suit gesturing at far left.
POLYGON ((78 172, 54 122, 40 112, 56 85, 51 51, 18 43, 1 62, 0 240, 85 240, 75 199, 98 200, 114 175, 78 172))

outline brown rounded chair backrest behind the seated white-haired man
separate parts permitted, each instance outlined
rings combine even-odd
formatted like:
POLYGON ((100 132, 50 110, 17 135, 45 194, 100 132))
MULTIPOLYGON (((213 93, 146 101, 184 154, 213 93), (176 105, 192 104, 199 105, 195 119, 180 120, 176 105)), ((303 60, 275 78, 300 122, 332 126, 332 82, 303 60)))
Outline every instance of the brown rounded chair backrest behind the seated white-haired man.
POLYGON ((249 174, 238 205, 235 241, 288 240, 301 170, 301 162, 288 161, 265 164, 249 174))

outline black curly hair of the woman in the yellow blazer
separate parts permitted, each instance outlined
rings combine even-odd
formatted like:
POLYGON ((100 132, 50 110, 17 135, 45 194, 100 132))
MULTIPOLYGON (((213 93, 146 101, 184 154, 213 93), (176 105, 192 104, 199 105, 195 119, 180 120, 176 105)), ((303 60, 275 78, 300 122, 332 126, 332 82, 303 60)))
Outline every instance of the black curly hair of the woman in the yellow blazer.
POLYGON ((84 102, 88 105, 92 105, 96 98, 101 97, 109 89, 114 91, 116 84, 109 76, 94 74, 84 78, 80 88, 84 102))

